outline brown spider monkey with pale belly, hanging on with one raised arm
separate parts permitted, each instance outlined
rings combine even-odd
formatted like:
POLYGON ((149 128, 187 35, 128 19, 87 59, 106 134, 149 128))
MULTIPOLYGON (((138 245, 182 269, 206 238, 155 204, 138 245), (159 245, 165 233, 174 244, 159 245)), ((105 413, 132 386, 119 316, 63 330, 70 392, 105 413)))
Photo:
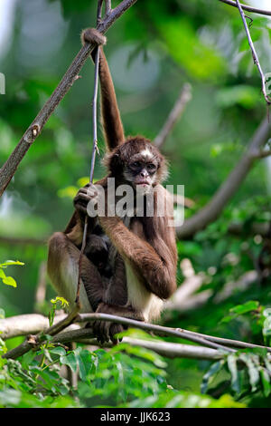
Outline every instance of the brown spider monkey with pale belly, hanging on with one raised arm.
MULTIPOLYGON (((101 121, 107 146, 107 176, 95 185, 79 189, 74 198, 75 211, 64 232, 56 232, 49 241, 48 273, 53 286, 72 306, 75 301, 79 251, 89 201, 96 202, 97 185, 108 195, 108 178, 116 185, 129 184, 145 199, 153 193, 154 215, 141 217, 88 217, 88 238, 81 263, 79 301, 83 312, 100 312, 152 321, 161 313, 163 301, 176 289, 177 251, 173 202, 161 185, 166 177, 164 156, 143 136, 125 137, 117 107, 116 93, 102 44, 106 37, 96 29, 82 33, 82 43, 97 44, 100 49, 99 82, 101 121), (165 214, 160 217, 158 201, 163 200, 165 214)), ((91 53, 95 57, 95 50, 91 53)), ((146 207, 146 201, 145 201, 146 207)), ((108 204, 107 204, 108 208, 108 204)), ((103 343, 116 343, 121 324, 97 321, 94 334, 103 343)))

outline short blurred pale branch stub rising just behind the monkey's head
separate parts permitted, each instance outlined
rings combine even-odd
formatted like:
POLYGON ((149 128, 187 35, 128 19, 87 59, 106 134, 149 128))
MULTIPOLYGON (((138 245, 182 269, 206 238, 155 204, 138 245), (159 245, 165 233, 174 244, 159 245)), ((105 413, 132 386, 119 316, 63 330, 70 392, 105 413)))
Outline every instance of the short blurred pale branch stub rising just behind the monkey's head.
POLYGON ((187 82, 183 85, 182 92, 180 93, 177 101, 175 102, 173 110, 170 112, 168 118, 166 119, 162 130, 154 139, 154 145, 157 148, 162 147, 170 131, 172 131, 174 124, 176 123, 176 121, 178 121, 178 119, 180 119, 180 116, 182 115, 186 104, 191 101, 191 99, 192 87, 191 84, 187 82))

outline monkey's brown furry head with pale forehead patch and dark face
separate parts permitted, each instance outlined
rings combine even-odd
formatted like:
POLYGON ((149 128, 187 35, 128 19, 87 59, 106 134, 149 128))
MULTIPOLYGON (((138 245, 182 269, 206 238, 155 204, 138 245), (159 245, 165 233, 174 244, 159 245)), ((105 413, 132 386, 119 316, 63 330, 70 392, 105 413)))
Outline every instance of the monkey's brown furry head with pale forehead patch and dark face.
POLYGON ((144 137, 127 139, 107 155, 105 160, 110 177, 117 184, 127 183, 147 193, 167 176, 164 156, 144 137))

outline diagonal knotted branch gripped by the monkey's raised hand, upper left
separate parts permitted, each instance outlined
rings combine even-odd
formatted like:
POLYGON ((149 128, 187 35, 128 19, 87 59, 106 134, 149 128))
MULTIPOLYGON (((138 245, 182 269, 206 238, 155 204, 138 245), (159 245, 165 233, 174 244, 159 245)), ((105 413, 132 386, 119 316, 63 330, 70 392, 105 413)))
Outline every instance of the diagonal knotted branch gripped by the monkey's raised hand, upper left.
MULTIPOLYGON (((105 17, 97 26, 100 33, 105 34, 108 28, 115 23, 115 21, 123 15, 126 10, 134 5, 137 0, 123 0, 120 5, 111 10, 111 13, 105 17)), ((27 131, 23 134, 23 138, 19 141, 18 145, 5 161, 5 164, 0 169, 0 197, 4 193, 23 157, 32 146, 34 140, 37 139, 41 133, 44 125, 51 117, 52 112, 61 102, 62 98, 69 92, 73 82, 78 78, 78 73, 84 63, 87 61, 89 54, 94 49, 94 44, 84 44, 79 53, 70 64, 68 71, 64 74, 61 82, 51 94, 49 100, 45 103, 42 110, 38 113, 32 124, 27 131)))

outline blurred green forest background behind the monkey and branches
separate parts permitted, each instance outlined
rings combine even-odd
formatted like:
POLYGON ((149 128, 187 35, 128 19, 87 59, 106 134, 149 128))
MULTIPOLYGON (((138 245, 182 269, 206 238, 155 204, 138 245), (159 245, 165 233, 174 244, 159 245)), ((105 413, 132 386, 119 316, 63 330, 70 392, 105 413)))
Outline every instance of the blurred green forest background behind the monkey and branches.
MULTIPOLYGON (((113 6, 117 3, 114 1, 113 6)), ((268 2, 247 3, 271 9, 268 2)), ((0 0, 0 72, 5 73, 6 84, 5 95, 0 95, 1 164, 79 52, 81 30, 95 26, 96 7, 96 0, 0 0)), ((251 36, 262 68, 268 73, 271 22, 260 15, 253 15, 253 19, 251 36)), ((237 164, 266 116, 260 78, 238 10, 213 0, 138 1, 108 30, 105 51, 127 135, 140 133, 154 139, 183 83, 192 84, 192 101, 163 152, 170 162, 166 183, 184 185, 186 197, 195 201, 196 209, 201 208, 237 164)), ((89 176, 90 60, 79 75, 0 201, 0 259, 24 263, 8 269, 17 289, 0 286, 0 306, 6 316, 35 310, 39 271, 46 260, 46 245, 39 242, 65 228, 80 179, 89 176), (5 237, 34 238, 38 242, 24 244, 5 237)), ((102 157, 100 129, 98 146, 102 157)), ((248 224, 252 219, 270 220, 270 160, 257 161, 215 226, 193 241, 178 244, 180 259, 188 257, 196 272, 208 276, 204 289, 221 289, 255 268, 262 239, 247 234, 230 237, 225 224, 233 217, 248 224), (226 265, 223 259, 230 253, 238 262, 226 265)), ((104 172, 98 159, 95 178, 104 172)), ((179 271, 179 284, 182 279, 179 271)), ((48 286, 47 300, 51 295, 54 292, 48 286)), ((227 324, 227 328, 219 327, 219 321, 237 302, 253 298, 268 305, 269 296, 268 285, 256 283, 248 293, 229 298, 224 304, 214 306, 210 300, 209 305, 190 315, 175 314, 165 321, 249 339, 251 331, 245 323, 240 328, 227 324)), ((181 360, 172 363, 169 370, 174 372, 178 363, 182 363, 182 372, 173 380, 182 382, 183 389, 186 382, 189 388, 198 386, 206 363, 202 362, 199 369, 199 363, 181 360)))

